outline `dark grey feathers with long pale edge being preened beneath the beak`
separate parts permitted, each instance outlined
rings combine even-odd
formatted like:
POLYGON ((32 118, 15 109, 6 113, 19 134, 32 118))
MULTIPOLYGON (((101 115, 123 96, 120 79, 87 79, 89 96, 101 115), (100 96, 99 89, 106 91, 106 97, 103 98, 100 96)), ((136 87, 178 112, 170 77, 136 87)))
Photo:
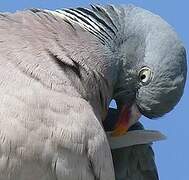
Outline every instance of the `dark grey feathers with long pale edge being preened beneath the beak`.
MULTIPOLYGON (((111 132, 119 113, 110 108, 104 122, 106 131, 111 132)), ((158 131, 145 130, 140 122, 129 128, 122 137, 108 135, 114 163, 116 180, 158 180, 152 143, 164 140, 158 131)))

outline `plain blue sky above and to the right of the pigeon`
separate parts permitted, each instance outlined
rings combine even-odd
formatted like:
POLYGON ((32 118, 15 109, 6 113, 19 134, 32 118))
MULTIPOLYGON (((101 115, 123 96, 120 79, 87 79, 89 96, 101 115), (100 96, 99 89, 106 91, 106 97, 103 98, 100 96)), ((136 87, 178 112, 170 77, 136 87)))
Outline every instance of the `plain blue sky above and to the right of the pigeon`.
MULTIPOLYGON (((32 7, 57 9, 63 7, 98 4, 129 4, 159 14, 178 32, 186 49, 189 48, 189 1, 187 0, 117 0, 117 1, 65 1, 65 0, 0 0, 0 11, 14 12, 32 7)), ((189 180, 189 83, 175 110, 158 120, 142 118, 148 129, 163 132, 168 139, 154 144, 156 162, 161 180, 189 180)))

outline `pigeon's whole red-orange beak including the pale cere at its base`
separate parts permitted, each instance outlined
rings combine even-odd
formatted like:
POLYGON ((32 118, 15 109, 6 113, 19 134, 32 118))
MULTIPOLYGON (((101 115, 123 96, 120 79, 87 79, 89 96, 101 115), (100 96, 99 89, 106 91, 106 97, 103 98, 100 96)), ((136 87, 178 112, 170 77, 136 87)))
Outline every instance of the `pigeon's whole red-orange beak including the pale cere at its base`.
POLYGON ((132 106, 124 105, 111 135, 117 137, 126 134, 128 129, 135 124, 140 117, 141 113, 135 103, 132 106))

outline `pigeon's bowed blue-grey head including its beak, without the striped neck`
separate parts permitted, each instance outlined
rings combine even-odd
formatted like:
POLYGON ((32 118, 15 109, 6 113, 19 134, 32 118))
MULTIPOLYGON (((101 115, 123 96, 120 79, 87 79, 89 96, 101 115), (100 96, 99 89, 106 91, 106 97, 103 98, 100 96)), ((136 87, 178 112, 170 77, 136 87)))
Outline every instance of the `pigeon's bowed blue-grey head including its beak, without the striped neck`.
POLYGON ((120 116, 113 135, 121 135, 141 115, 150 119, 170 112, 185 86, 184 46, 162 18, 133 8, 125 18, 119 47, 120 70, 114 89, 120 116))

